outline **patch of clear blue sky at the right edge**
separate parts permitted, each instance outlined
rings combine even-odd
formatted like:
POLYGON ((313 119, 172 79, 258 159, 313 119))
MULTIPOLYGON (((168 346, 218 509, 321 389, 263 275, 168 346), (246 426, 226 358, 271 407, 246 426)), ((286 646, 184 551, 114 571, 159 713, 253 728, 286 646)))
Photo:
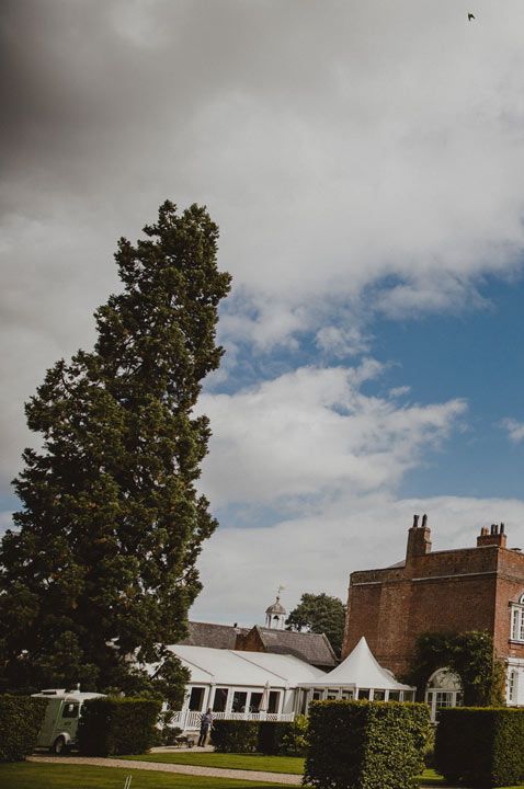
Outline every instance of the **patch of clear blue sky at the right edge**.
POLYGON ((524 442, 501 422, 524 420, 524 282, 486 279, 486 308, 374 325, 374 356, 411 402, 464 398, 467 430, 410 472, 402 495, 522 496, 524 442))

